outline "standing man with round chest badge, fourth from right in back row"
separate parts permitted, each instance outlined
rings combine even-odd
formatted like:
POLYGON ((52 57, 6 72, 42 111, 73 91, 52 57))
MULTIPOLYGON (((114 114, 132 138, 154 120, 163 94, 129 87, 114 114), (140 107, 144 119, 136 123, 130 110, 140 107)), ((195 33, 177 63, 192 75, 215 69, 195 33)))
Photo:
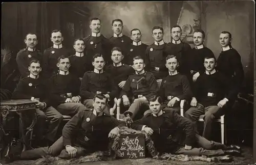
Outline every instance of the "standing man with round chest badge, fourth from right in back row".
POLYGON ((165 67, 167 52, 163 35, 163 28, 154 26, 152 29, 152 37, 155 42, 148 46, 145 51, 146 70, 152 72, 157 79, 162 79, 168 75, 168 69, 165 67))

